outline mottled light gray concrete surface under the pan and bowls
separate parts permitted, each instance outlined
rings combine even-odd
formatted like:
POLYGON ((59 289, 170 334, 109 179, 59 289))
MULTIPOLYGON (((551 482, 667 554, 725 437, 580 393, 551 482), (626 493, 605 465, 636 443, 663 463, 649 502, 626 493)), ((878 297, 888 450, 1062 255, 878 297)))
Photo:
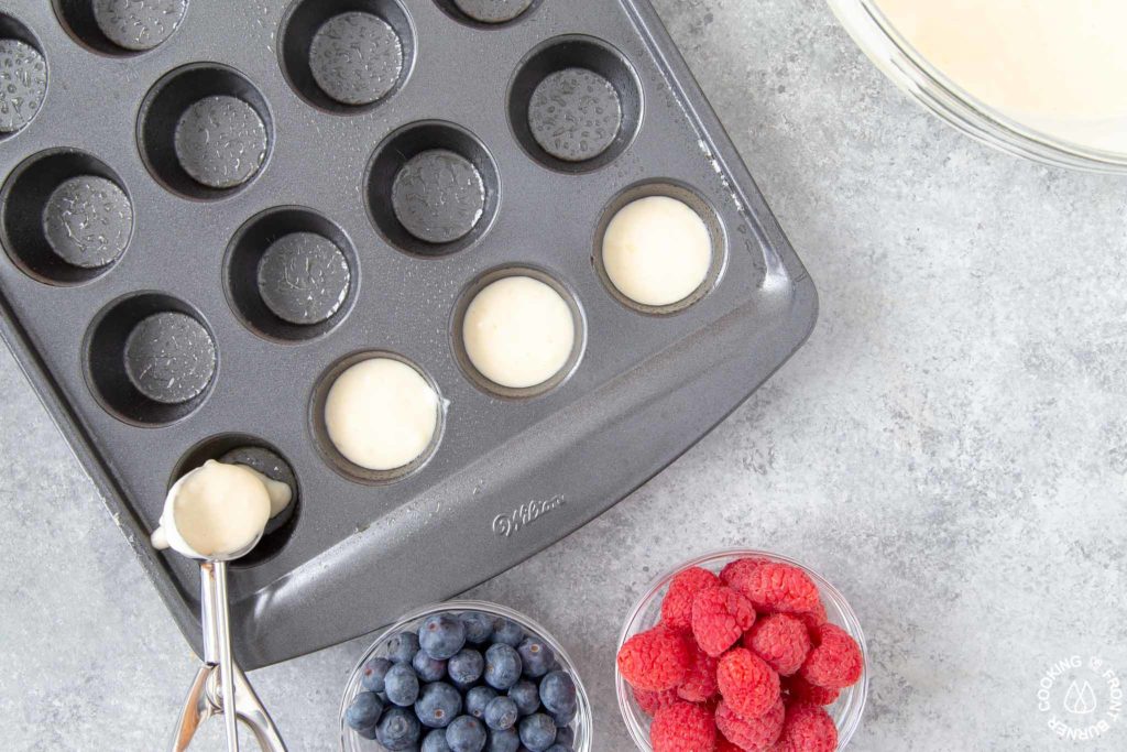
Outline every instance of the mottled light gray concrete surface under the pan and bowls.
MULTIPOLYGON (((600 751, 630 749, 612 690, 628 604, 655 570, 744 543, 807 560, 860 613, 873 678, 852 749, 1127 749, 1125 722, 1049 727, 1113 709, 1102 675, 1045 678, 1071 656, 1127 675, 1127 182, 955 133, 815 0, 657 5, 822 320, 668 471, 474 594, 571 647, 600 751), (1061 709, 1074 678, 1093 714, 1061 709)), ((161 749, 193 657, 7 353, 0 389, 0 746, 161 749)), ((254 676, 291 749, 336 749, 361 649, 254 676)))

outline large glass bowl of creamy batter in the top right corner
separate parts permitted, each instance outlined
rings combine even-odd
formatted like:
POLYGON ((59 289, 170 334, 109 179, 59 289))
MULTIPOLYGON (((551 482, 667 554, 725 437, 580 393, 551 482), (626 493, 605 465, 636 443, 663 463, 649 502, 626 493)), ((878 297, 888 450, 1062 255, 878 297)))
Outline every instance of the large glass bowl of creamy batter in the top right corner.
POLYGON ((828 3, 877 68, 964 133, 1057 167, 1127 172, 1127 3, 828 3))

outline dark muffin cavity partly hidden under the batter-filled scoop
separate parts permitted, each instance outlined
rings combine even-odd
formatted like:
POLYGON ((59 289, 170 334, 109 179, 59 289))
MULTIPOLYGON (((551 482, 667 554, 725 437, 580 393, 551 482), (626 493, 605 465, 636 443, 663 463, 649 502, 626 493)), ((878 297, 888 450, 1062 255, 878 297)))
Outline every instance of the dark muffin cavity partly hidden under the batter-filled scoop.
POLYGON ((261 472, 267 478, 278 480, 290 486, 293 498, 290 506, 277 516, 270 517, 266 532, 250 554, 232 563, 236 568, 255 567, 276 556, 293 538, 301 516, 301 487, 293 467, 285 460, 282 452, 269 442, 257 436, 240 433, 228 433, 206 439, 193 446, 176 463, 176 469, 168 479, 168 487, 203 467, 207 460, 218 460, 228 465, 245 465, 261 472))

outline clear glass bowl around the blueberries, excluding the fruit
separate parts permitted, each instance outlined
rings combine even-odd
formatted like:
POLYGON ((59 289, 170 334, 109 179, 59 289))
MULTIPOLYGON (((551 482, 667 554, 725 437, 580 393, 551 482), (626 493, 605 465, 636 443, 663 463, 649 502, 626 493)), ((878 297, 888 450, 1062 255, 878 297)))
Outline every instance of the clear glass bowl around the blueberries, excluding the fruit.
POLYGON ((576 714, 575 720, 571 722, 571 731, 575 732, 575 752, 591 752, 593 749, 592 738, 594 732, 591 699, 587 697, 587 690, 584 689, 583 681, 579 679, 579 673, 576 671, 575 663, 573 663, 570 656, 568 656, 564 647, 548 632, 547 629, 523 613, 517 613, 516 611, 505 608, 504 605, 487 603, 485 601, 450 601, 447 603, 436 603, 435 605, 428 605, 418 609, 417 611, 411 611, 394 625, 388 627, 388 629, 376 638, 375 643, 372 644, 372 647, 367 648, 363 657, 361 657, 361 660, 356 663, 356 667, 353 669, 352 675, 348 678, 348 684, 345 687, 344 698, 340 700, 341 751, 384 752, 384 746, 382 744, 362 737, 345 723, 345 710, 348 708, 349 704, 352 704, 353 699, 364 691, 360 683, 361 671, 363 670, 364 664, 374 657, 387 656, 388 642, 392 637, 401 631, 417 631, 423 625, 423 620, 427 617, 432 617, 437 613, 462 613, 464 611, 480 611, 492 617, 502 617, 511 621, 515 621, 524 628, 524 631, 530 635, 535 635, 548 643, 548 646, 556 653, 556 658, 559 661, 560 666, 571 674, 571 678, 575 680, 576 693, 579 701, 579 713, 576 714))

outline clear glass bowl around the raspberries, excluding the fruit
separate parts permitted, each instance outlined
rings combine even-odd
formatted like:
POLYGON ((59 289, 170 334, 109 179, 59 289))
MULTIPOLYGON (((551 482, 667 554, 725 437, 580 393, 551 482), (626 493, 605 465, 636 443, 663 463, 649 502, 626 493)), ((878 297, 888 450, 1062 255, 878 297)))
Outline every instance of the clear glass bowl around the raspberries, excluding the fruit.
MULTIPOLYGON (((864 704, 869 696, 869 649, 864 643, 864 632, 861 631, 861 622, 858 621, 853 609, 845 601, 845 596, 822 575, 799 561, 769 551, 743 549, 706 554, 699 558, 685 561, 676 568, 658 576, 646 589, 635 607, 630 609, 625 627, 622 629, 622 636, 619 638, 619 649, 622 649, 628 639, 639 632, 651 629, 662 620, 662 601, 665 599, 669 582, 675 576, 690 567, 701 567, 719 574, 720 569, 731 561, 745 557, 758 557, 780 561, 806 572, 818 586, 818 590, 822 591, 822 601, 826 605, 827 619, 848 631, 857 640, 857 644, 861 646, 861 655, 864 657, 864 671, 861 674, 860 681, 842 691, 837 701, 826 708, 829 715, 833 716, 834 723, 837 724, 837 749, 844 750, 853 738, 857 729, 861 726, 861 716, 864 714, 864 704)), ((622 719, 625 720, 630 736, 639 750, 653 752, 654 747, 649 743, 650 718, 638 706, 633 690, 627 683, 625 679, 622 678, 622 674, 619 673, 618 667, 614 670, 614 683, 619 695, 619 709, 622 711, 622 719)))

